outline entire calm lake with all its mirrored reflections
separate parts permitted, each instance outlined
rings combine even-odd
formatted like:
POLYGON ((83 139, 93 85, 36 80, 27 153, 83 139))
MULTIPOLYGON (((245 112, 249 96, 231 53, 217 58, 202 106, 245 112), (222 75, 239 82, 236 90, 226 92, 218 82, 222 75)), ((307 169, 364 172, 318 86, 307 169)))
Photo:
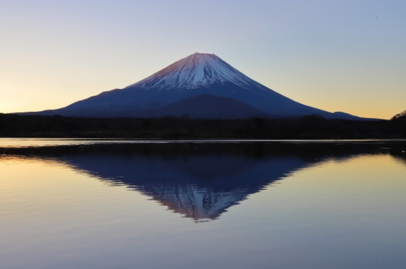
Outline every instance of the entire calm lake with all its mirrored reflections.
POLYGON ((404 268, 404 151, 0 139, 0 268, 404 268))

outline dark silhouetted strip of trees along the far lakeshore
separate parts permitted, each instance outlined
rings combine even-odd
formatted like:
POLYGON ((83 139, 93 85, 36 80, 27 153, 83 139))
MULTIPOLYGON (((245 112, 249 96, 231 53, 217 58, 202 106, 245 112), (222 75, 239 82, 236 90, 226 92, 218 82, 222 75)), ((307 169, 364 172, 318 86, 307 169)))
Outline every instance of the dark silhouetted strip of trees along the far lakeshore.
POLYGON ((0 114, 0 137, 406 138, 406 120, 404 120, 404 116, 392 120, 349 121, 327 120, 319 116, 304 116, 295 119, 198 120, 188 117, 100 119, 0 114))

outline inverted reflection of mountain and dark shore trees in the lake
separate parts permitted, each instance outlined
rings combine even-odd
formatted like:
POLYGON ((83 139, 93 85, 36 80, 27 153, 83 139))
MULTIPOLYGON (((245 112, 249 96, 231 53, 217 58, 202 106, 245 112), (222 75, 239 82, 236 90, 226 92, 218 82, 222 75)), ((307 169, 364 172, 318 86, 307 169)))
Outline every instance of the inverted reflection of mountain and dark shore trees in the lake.
POLYGON ((249 194, 304 167, 378 153, 405 160, 401 151, 377 144, 103 144, 7 151, 126 185, 196 222, 219 218, 249 194))

